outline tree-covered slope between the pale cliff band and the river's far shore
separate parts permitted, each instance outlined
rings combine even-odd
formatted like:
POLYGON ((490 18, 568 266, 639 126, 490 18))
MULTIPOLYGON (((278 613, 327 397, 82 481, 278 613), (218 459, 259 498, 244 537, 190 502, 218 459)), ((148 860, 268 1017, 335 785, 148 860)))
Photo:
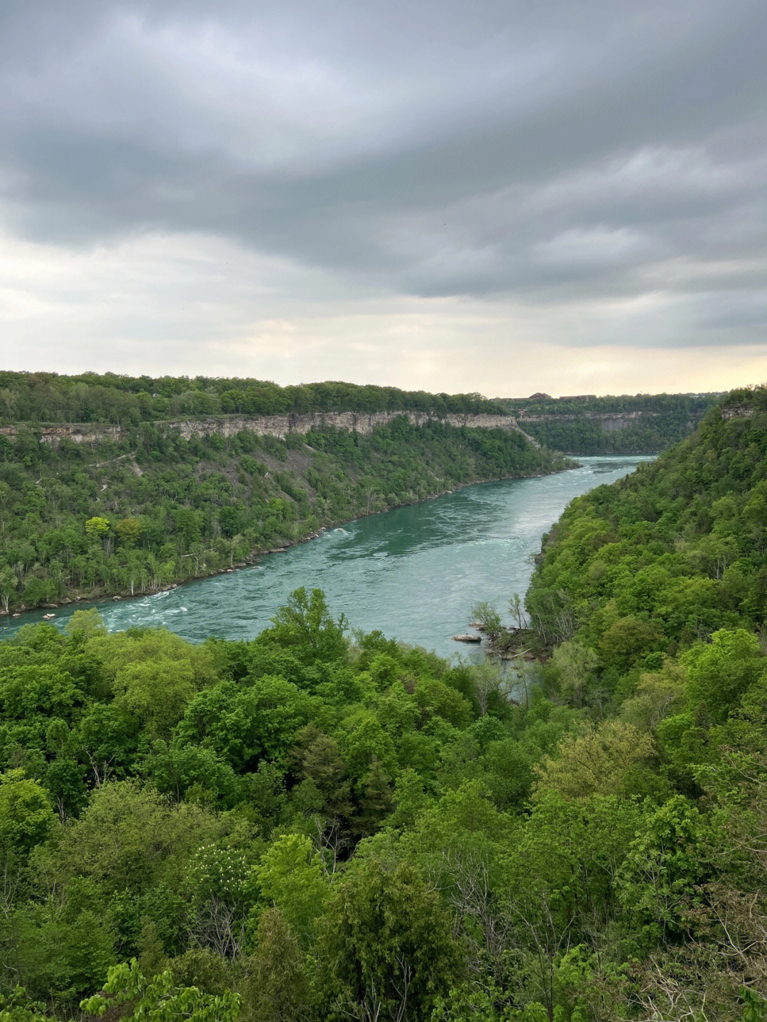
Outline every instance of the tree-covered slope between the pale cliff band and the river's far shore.
POLYGON ((285 440, 186 440, 147 423, 119 442, 54 448, 22 428, 0 436, 0 605, 154 592, 334 522, 565 464, 517 432, 404 416, 369 435, 285 440))

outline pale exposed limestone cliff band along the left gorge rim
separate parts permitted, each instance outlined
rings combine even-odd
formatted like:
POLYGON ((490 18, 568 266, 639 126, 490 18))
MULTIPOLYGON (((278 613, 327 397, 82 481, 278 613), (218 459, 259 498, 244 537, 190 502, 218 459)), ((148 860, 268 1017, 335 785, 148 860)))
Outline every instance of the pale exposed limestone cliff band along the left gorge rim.
MULTIPOLYGON (((315 412, 307 415, 226 415, 169 420, 155 422, 153 425, 160 429, 178 431, 185 439, 190 439, 195 434, 210 436, 220 433, 222 436, 234 436, 244 429, 261 436, 284 437, 291 432, 306 433, 309 429, 322 429, 327 426, 354 430, 358 433, 372 433, 401 415, 406 416, 416 426, 422 426, 434 418, 425 412, 315 412)), ((436 421, 459 427, 509 429, 522 433, 534 447, 539 447, 537 440, 528 436, 511 415, 446 415, 436 421)), ((16 432, 15 426, 0 426, 0 435, 12 437, 16 432)), ((56 425, 41 427, 40 434, 48 444, 59 444, 64 438, 75 444, 95 444, 106 438, 121 439, 128 435, 128 430, 121 426, 56 425)))

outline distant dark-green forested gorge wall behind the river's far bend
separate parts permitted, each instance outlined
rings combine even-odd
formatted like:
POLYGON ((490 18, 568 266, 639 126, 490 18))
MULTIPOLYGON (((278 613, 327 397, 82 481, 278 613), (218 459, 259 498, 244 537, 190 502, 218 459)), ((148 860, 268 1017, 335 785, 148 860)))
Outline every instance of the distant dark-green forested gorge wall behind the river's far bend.
POLYGON ((660 393, 634 397, 548 398, 506 401, 525 431, 553 451, 566 454, 656 454, 688 436, 716 404, 713 393, 660 393), (524 414, 521 414, 524 410, 524 414), (596 416, 633 415, 616 428, 596 416), (568 416, 530 421, 529 416, 568 416))

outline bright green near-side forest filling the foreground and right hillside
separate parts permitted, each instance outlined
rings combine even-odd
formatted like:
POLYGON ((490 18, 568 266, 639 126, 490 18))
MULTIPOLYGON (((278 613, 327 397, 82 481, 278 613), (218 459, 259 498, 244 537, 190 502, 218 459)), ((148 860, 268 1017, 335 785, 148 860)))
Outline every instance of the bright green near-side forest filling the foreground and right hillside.
POLYGON ((767 1019, 767 389, 726 404, 544 538, 521 692, 319 590, 0 643, 0 1022, 767 1019))

